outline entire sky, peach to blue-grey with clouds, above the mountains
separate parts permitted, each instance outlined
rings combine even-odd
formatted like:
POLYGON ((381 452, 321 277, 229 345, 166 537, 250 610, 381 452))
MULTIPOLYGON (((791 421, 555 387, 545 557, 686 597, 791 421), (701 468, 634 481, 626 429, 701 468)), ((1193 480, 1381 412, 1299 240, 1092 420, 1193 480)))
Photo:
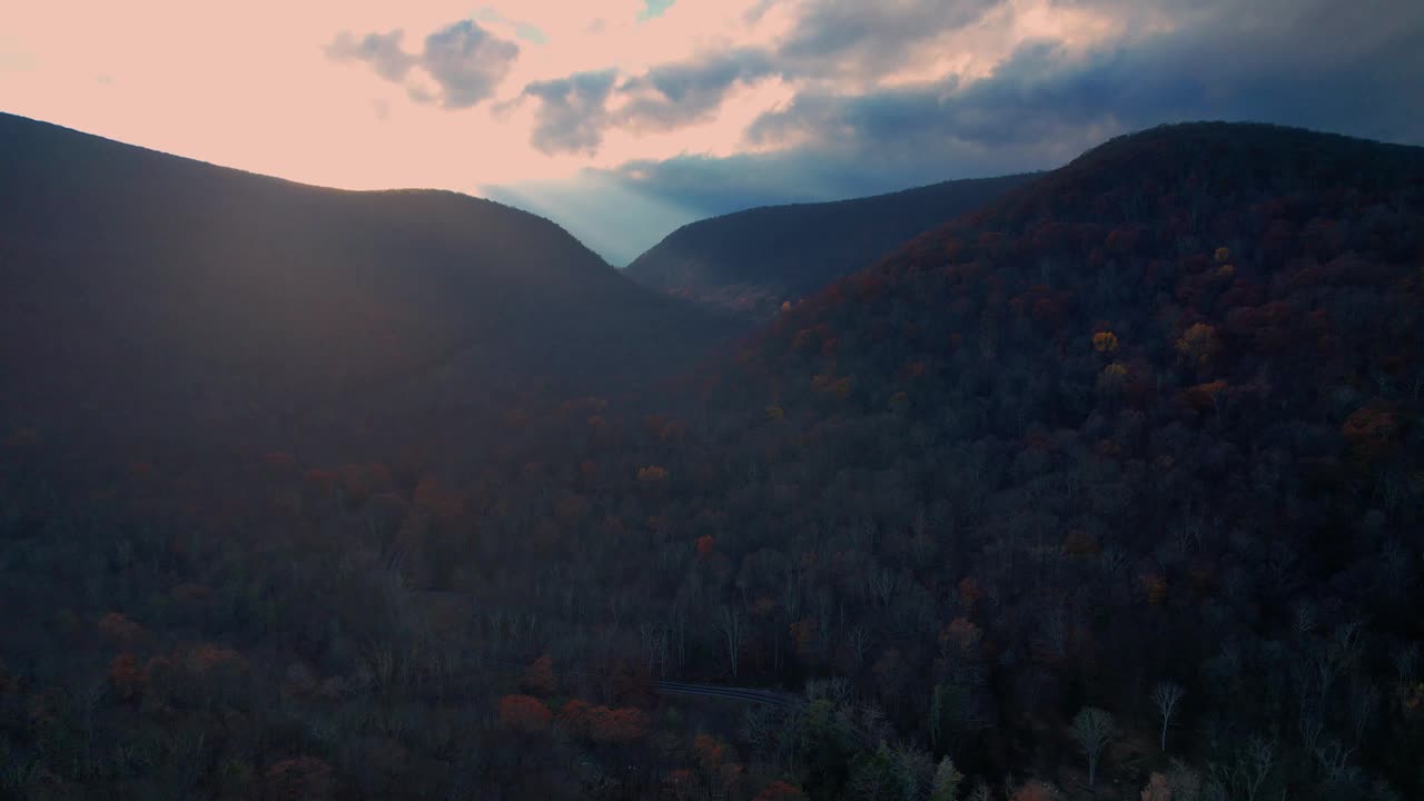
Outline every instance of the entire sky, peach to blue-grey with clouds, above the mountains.
POLYGON ((1424 3, 21 1, 0 110, 488 197, 621 267, 693 219, 1052 168, 1161 123, 1424 144, 1424 3))

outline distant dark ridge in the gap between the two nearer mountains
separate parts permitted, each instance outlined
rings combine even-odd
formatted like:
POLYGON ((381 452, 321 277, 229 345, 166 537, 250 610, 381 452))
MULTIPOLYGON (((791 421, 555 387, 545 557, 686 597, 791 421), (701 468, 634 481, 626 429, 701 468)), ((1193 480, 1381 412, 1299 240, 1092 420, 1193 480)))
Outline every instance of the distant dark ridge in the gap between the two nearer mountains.
POLYGON ((1034 175, 944 181, 837 202, 752 208, 678 228, 628 265, 639 284, 766 316, 1034 175))

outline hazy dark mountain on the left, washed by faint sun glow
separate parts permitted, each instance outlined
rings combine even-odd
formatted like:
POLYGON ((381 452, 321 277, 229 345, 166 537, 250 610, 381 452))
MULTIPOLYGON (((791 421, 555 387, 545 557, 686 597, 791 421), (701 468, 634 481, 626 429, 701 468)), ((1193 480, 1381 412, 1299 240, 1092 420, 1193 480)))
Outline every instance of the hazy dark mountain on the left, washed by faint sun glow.
POLYGON ((316 188, 0 115, 6 423, 302 430, 617 388, 723 331, 496 202, 316 188))

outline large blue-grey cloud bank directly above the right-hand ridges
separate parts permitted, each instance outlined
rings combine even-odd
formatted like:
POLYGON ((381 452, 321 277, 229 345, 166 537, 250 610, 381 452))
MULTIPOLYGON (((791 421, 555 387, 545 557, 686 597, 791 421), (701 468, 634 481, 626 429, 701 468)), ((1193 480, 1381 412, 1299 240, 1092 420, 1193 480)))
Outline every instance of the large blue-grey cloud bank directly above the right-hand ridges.
POLYGON ((752 145, 783 150, 634 162, 614 175, 721 214, 1051 168, 1111 135, 1188 120, 1424 144, 1420 30, 1424 4, 1381 3, 1370 13, 1300 1, 1199 4, 1190 24, 1088 54, 1028 43, 980 81, 803 93, 746 133, 752 145))

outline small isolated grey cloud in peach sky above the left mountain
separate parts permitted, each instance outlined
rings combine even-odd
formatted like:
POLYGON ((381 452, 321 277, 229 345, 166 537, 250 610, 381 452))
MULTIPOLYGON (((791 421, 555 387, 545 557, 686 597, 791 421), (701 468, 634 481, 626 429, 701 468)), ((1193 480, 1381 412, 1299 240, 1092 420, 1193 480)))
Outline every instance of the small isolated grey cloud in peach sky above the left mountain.
POLYGON ((517 44, 468 20, 427 36, 419 54, 406 53, 400 40, 399 30, 362 38, 343 31, 326 47, 326 54, 337 61, 365 61, 377 76, 394 83, 404 81, 412 67, 422 67, 440 91, 407 86, 407 95, 416 103, 439 101, 446 108, 468 108, 494 95, 520 54, 517 44))

